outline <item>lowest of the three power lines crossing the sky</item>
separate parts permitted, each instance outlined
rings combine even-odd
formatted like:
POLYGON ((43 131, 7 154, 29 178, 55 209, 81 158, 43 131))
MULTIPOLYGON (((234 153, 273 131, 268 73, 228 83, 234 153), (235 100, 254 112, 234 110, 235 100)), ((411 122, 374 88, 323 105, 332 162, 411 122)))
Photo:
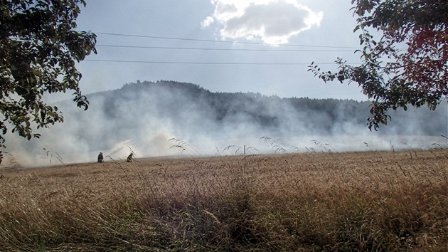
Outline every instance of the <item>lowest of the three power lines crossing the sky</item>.
MULTIPOLYGON (((92 62, 113 63, 151 63, 151 64, 178 64, 178 65, 310 65, 310 63, 231 63, 231 62, 183 62, 183 61, 122 61, 122 60, 84 60, 92 62)), ((336 63, 316 63, 316 65, 334 65, 336 63)), ((356 65, 360 63, 346 63, 356 65)))

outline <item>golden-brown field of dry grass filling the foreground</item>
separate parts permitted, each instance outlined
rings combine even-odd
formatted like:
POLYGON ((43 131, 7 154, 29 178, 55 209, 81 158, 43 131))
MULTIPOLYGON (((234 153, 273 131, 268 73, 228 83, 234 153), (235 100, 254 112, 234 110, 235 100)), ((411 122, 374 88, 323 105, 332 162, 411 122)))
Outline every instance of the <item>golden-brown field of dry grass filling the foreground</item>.
POLYGON ((0 170, 1 251, 447 251, 448 150, 0 170))

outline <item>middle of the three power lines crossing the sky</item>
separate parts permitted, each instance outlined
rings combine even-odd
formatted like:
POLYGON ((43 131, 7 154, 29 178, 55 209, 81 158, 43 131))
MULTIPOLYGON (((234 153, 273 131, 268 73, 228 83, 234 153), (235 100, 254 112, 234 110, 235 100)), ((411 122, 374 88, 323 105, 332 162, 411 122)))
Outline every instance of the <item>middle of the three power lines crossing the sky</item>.
POLYGON ((121 45, 96 45, 98 47, 114 48, 147 48, 166 50, 200 50, 200 51, 269 51, 269 52, 353 52, 353 50, 284 50, 284 49, 245 49, 245 48, 192 48, 192 47, 166 47, 166 46, 121 46, 121 45))

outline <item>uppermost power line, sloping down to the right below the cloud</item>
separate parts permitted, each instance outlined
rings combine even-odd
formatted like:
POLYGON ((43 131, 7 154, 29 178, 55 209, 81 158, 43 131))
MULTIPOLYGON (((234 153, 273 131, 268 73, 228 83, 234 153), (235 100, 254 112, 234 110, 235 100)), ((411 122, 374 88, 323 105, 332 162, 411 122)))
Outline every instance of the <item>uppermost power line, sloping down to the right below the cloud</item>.
POLYGON ((250 45, 262 45, 262 46, 294 46, 294 47, 315 47, 315 48, 347 48, 347 49, 360 49, 358 47, 351 46, 310 46, 310 45, 294 45, 294 44, 270 44, 270 43, 257 43, 257 42, 240 42, 240 41, 214 41, 209 39, 198 39, 198 38, 176 38, 176 37, 163 37, 163 36, 146 36, 146 35, 133 35, 133 34, 122 34, 122 33, 103 33, 94 32, 95 34, 108 35, 108 36, 125 36, 125 37, 135 37, 135 38, 158 38, 158 39, 169 39, 177 41, 198 41, 198 42, 211 42, 211 43, 240 43, 240 44, 250 44, 250 45))

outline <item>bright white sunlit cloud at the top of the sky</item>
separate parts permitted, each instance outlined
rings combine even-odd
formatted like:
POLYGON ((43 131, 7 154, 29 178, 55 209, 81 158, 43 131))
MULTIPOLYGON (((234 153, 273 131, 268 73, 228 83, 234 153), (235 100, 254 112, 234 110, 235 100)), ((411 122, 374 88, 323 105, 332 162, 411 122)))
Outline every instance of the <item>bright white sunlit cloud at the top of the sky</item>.
POLYGON ((323 12, 314 12, 297 0, 211 0, 215 11, 202 28, 220 23, 223 39, 246 38, 284 44, 302 31, 319 26, 323 12))

